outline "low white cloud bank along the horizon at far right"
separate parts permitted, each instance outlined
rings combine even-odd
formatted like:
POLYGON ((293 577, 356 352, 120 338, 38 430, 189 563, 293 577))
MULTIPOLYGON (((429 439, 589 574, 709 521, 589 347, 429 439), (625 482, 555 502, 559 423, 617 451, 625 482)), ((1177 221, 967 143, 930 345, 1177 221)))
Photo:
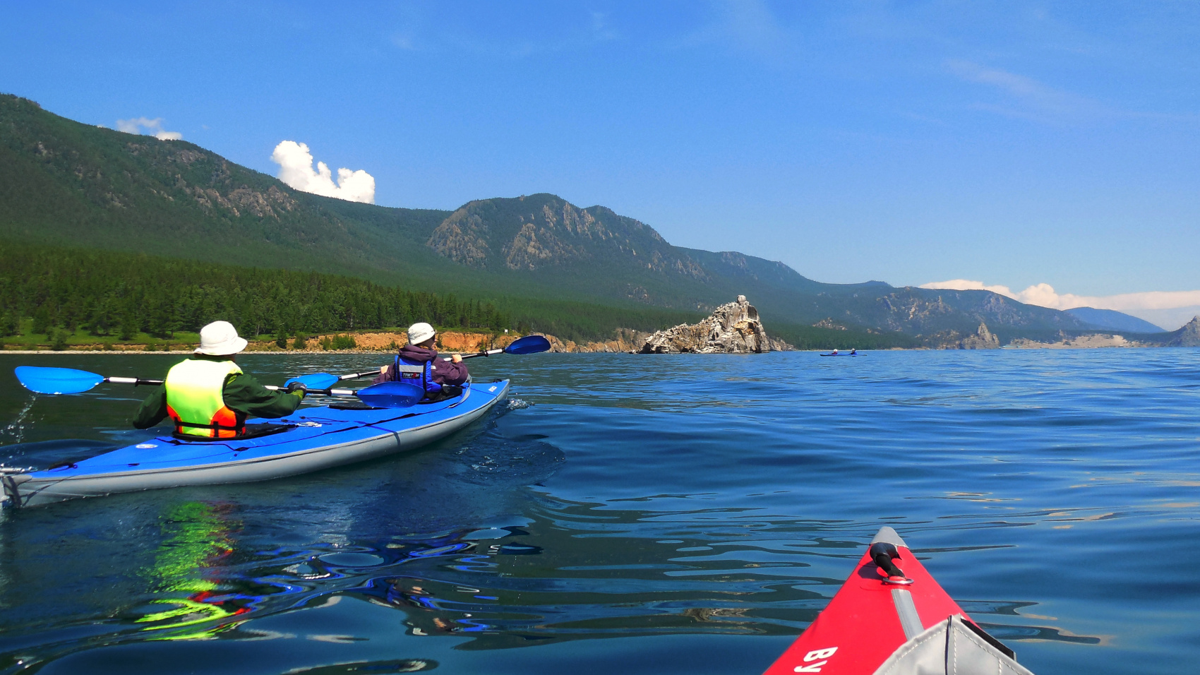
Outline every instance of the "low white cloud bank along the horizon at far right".
POLYGON ((1055 310, 1096 307, 1116 310, 1174 330, 1200 313, 1200 291, 1150 291, 1146 293, 1121 293, 1118 295, 1074 295, 1058 293, 1049 283, 1034 283, 1020 293, 1008 286, 985 286, 983 281, 952 279, 923 283, 922 288, 950 288, 955 291, 991 291, 1027 305, 1055 310))

